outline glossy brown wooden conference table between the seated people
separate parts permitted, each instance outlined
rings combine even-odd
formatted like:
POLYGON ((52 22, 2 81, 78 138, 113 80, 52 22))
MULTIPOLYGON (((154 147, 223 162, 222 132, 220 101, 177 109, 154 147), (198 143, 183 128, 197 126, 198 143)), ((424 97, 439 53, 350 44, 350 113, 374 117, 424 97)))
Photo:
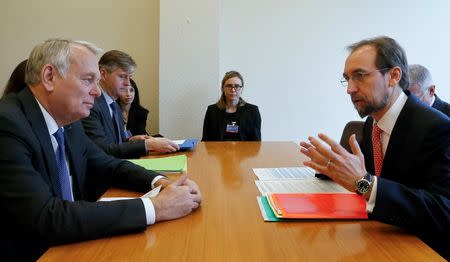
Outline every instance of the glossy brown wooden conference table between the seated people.
MULTIPOLYGON (((41 261, 440 261, 426 244, 376 221, 264 222, 253 167, 299 166, 292 142, 209 142, 187 152, 203 195, 191 215, 144 232, 53 247, 41 261)), ((137 196, 111 189, 108 196, 137 196)))

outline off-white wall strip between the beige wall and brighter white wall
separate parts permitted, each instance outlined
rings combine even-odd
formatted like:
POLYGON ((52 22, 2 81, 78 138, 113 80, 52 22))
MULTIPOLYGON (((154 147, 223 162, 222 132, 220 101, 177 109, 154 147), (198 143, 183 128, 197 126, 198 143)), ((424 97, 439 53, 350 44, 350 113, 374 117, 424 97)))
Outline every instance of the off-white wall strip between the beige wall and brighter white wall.
POLYGON ((208 92, 219 81, 218 0, 160 1, 159 126, 200 137, 208 92))

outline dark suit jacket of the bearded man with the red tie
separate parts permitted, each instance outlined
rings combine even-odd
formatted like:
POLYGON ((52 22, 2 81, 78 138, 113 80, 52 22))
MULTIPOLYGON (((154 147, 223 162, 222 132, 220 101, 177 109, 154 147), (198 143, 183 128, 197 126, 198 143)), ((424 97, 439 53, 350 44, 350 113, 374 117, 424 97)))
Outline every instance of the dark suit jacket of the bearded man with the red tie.
MULTIPOLYGON (((361 147, 374 174, 372 123, 361 147)), ((392 130, 376 194, 372 219, 406 228, 449 258, 450 120, 413 95, 392 130)))

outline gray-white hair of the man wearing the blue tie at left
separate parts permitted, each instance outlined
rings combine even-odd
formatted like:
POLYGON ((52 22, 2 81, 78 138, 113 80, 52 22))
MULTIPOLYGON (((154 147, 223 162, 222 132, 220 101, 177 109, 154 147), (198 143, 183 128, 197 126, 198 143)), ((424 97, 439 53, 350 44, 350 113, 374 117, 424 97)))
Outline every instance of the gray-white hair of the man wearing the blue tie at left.
POLYGON ((70 39, 48 39, 33 48, 28 58, 25 70, 25 83, 29 86, 41 82, 41 69, 46 64, 53 65, 59 74, 65 78, 69 69, 70 57, 75 46, 86 47, 93 54, 98 55, 101 49, 86 41, 73 41, 70 39))

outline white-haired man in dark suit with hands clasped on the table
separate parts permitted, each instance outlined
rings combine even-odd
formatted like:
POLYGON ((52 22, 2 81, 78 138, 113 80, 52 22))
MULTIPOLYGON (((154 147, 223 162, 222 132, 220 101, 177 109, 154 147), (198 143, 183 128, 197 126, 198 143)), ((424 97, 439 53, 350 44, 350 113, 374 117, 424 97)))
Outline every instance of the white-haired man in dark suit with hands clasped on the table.
MULTIPOLYGON (((27 87, 0 101, 0 257, 36 260, 52 246, 144 230, 199 206, 197 185, 167 178, 104 153, 77 120, 100 95, 97 48, 52 39, 30 54, 27 87), (154 198, 89 202, 92 181, 154 198)), ((95 191, 95 190, 94 190, 95 191)))

